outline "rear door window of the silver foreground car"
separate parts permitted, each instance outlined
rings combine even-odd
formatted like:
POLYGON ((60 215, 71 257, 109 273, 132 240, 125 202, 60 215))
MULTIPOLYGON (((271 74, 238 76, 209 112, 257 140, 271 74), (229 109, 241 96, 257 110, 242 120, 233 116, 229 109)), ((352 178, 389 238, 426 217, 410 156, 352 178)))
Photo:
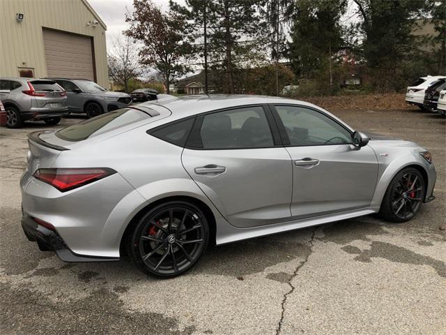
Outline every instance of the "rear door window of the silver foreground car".
POLYGON ((203 116, 199 130, 203 149, 274 147, 263 107, 242 107, 203 116))

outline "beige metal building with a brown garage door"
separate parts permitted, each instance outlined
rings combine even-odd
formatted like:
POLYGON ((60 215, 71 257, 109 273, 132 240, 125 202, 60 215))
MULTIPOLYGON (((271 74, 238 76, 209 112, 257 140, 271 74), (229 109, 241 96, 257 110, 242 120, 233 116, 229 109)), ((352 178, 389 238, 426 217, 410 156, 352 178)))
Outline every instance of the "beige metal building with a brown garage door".
POLYGON ((107 88, 106 30, 86 0, 0 0, 0 77, 85 78, 107 88))

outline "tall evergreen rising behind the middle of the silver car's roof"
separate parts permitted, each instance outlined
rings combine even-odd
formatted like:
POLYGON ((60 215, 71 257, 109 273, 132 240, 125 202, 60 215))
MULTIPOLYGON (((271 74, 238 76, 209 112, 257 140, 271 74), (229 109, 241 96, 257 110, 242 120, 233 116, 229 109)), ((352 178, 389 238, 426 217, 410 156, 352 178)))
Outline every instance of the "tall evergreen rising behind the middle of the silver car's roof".
POLYGON ((252 61, 252 50, 261 40, 261 18, 255 0, 186 0, 185 6, 171 1, 171 10, 190 24, 188 36, 195 40, 195 51, 204 54, 203 30, 206 17, 206 54, 210 68, 221 71, 223 90, 236 91, 236 70, 252 61), (206 15, 205 15, 206 13, 206 15))

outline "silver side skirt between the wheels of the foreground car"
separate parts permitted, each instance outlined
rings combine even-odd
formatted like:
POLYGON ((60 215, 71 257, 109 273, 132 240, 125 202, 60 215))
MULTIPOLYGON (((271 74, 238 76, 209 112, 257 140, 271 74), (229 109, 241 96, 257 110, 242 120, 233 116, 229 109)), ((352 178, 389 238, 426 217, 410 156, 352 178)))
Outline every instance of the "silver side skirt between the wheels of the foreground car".
MULTIPOLYGON (((287 232, 289 230, 297 230, 301 228, 311 227, 312 225, 322 225, 334 221, 346 220, 347 218, 355 218, 357 216, 364 216, 368 214, 377 213, 379 207, 367 207, 362 209, 355 209, 352 211, 344 211, 337 214, 327 214, 315 216, 313 218, 302 218, 295 221, 286 221, 284 223, 275 223, 273 225, 261 225, 250 228, 236 228, 227 221, 217 222, 217 237, 216 244, 226 244, 234 241, 241 241, 243 239, 252 239, 254 237, 261 237, 270 234, 277 234, 279 232, 287 232)), ((224 219, 223 219, 224 220, 224 219)))

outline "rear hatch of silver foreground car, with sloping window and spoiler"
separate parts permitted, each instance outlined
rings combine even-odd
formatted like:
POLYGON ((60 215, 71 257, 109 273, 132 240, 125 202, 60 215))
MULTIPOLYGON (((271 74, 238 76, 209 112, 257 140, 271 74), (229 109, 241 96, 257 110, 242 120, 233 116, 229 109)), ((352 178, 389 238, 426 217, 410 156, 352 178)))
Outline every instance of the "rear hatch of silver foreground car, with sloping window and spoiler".
POLYGON ((52 163, 63 151, 75 149, 89 143, 94 145, 102 140, 144 126, 168 117, 171 112, 160 105, 125 107, 88 119, 58 131, 35 131, 28 135, 28 170, 51 168, 52 163))

